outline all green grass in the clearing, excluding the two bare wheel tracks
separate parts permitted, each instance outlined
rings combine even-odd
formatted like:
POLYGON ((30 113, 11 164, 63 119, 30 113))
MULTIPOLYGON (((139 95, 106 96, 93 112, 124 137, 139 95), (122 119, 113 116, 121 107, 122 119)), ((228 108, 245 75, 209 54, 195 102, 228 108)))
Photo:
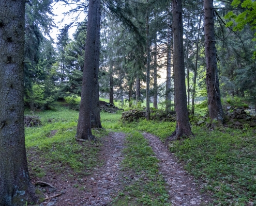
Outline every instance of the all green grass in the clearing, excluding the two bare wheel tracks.
MULTIPOLYGON (((147 184, 144 184, 143 179, 133 181, 127 175, 127 178, 124 178, 127 186, 114 204, 168 204, 164 200, 167 193, 164 190, 163 179, 157 175, 157 159, 152 157, 153 151, 137 131, 150 132, 163 141, 174 131, 175 123, 141 120, 137 123, 123 124, 119 122, 121 114, 122 112, 101 113, 102 125, 106 130, 95 130, 94 134, 100 139, 108 131, 129 133, 127 149, 124 151, 127 155, 123 162, 124 174, 128 172, 127 174, 135 177, 141 173, 140 175, 147 179, 147 184)), ((42 177, 47 169, 56 173, 68 169, 70 175, 86 175, 100 164, 97 159, 100 142, 74 141, 77 111, 57 107, 55 110, 42 111, 36 115, 41 117, 42 126, 25 129, 28 162, 33 176, 42 177), (52 131, 56 133, 52 135, 52 131), (81 173, 81 168, 87 168, 85 174, 81 173)), ((170 150, 186 163, 186 170, 196 178, 203 179, 205 191, 212 194, 215 199, 213 204, 247 205, 248 202, 255 204, 255 131, 250 128, 244 130, 223 128, 211 131, 204 126, 192 126, 192 131, 195 134, 193 138, 173 142, 170 150)))

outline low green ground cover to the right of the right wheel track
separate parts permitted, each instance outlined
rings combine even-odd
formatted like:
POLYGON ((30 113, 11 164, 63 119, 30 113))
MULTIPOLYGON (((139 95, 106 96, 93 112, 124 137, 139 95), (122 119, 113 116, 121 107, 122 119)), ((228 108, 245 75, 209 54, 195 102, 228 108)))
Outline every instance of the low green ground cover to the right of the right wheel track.
POLYGON ((244 205, 254 201, 256 175, 253 130, 244 132, 224 128, 209 131, 193 127, 194 138, 170 144, 170 149, 186 162, 185 168, 202 178, 205 190, 213 194, 215 204, 244 205))

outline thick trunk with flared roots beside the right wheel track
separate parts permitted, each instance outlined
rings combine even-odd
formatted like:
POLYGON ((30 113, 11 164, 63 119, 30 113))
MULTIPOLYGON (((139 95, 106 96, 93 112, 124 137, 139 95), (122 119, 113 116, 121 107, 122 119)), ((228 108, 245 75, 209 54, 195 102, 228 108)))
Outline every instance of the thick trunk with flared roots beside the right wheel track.
POLYGON ((185 84, 185 63, 183 49, 182 0, 172 1, 173 14, 173 66, 176 108, 176 130, 168 138, 169 141, 192 135, 187 108, 185 84))

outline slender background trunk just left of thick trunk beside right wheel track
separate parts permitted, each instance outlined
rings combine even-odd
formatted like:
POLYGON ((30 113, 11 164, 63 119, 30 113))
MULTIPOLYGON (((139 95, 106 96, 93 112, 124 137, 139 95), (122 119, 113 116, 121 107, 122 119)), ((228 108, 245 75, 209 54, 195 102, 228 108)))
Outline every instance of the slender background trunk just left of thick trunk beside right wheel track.
POLYGON ((172 41, 172 29, 171 29, 171 20, 167 20, 167 77, 166 77, 166 94, 165 101, 166 107, 165 111, 171 111, 171 41, 172 41))

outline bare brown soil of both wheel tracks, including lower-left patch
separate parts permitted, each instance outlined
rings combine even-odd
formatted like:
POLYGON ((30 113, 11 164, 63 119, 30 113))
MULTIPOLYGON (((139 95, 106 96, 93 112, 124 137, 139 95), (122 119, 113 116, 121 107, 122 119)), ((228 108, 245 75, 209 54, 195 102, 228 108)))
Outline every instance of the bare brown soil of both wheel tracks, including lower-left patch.
MULTIPOLYGON (((202 184, 195 183, 194 178, 184 169, 156 136, 143 133, 152 146, 156 157, 160 160, 159 171, 168 185, 170 200, 173 205, 206 205, 211 201, 207 194, 200 193, 202 184)), ((50 174, 47 177, 33 179, 43 188, 47 200, 40 206, 78 206, 78 205, 112 205, 112 200, 123 190, 121 162, 123 160, 125 134, 110 133, 103 140, 100 153, 102 166, 97 167, 93 174, 84 177, 68 176, 67 174, 50 174), (65 176, 65 178, 63 178, 65 176), (55 197, 56 196, 56 197, 55 197)))

